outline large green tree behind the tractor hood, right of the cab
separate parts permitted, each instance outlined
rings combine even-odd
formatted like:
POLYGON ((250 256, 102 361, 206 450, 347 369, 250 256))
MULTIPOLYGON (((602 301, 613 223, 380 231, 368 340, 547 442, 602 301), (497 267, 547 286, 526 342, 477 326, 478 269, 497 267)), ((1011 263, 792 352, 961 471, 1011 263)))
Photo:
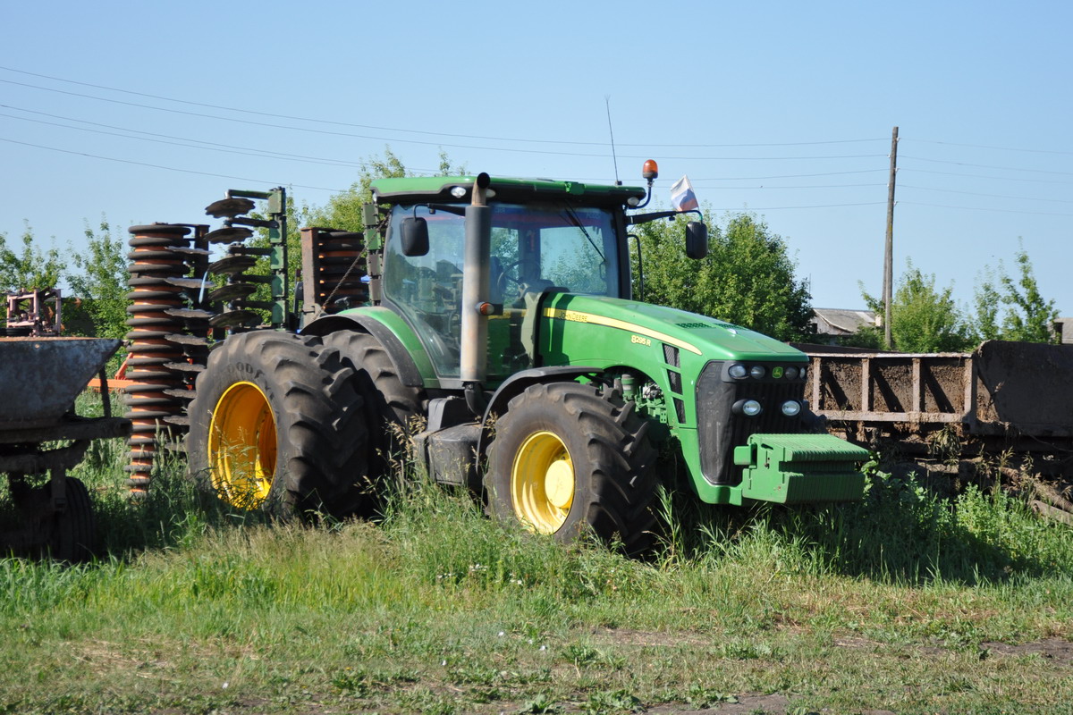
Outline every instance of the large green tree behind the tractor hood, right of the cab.
POLYGON ((634 255, 634 295, 644 300, 710 315, 779 340, 810 334, 811 296, 794 271, 782 237, 750 213, 730 214, 725 227, 708 221, 708 255, 686 256, 686 218, 635 226, 641 260, 634 255))

